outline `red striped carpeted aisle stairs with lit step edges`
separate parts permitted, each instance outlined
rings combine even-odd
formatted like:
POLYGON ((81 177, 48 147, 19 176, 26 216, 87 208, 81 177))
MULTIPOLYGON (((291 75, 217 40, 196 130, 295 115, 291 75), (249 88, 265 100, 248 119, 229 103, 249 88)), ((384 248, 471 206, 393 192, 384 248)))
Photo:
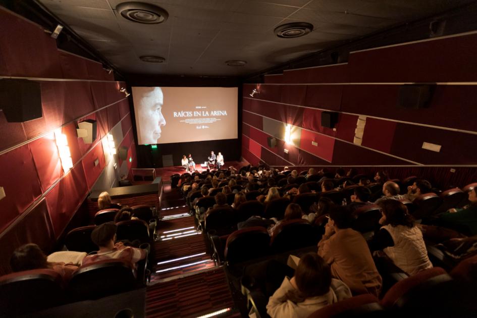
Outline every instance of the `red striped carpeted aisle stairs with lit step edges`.
POLYGON ((151 283, 148 317, 240 317, 227 277, 213 259, 207 236, 197 231, 177 189, 164 187, 151 283), (172 203, 172 204, 171 204, 172 203))

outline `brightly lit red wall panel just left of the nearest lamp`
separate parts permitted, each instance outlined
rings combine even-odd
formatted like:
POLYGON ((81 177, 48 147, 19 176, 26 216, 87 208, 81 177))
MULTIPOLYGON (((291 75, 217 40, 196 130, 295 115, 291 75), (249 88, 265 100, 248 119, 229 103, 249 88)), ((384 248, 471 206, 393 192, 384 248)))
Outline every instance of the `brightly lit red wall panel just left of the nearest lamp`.
POLYGON ((42 192, 45 192, 63 175, 55 134, 49 133, 29 145, 42 192))

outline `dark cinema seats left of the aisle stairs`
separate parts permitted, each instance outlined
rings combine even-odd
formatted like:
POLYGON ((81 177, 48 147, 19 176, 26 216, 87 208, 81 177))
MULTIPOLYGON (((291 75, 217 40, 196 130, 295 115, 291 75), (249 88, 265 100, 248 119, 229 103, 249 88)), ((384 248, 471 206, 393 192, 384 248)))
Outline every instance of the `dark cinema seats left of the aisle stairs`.
MULTIPOLYGON (((11 273, 0 277, 0 310, 2 316, 29 315, 42 309, 78 301, 97 300, 110 295, 143 288, 150 280, 153 255, 149 254, 154 241, 158 216, 156 208, 148 205, 132 206, 137 220, 117 225, 117 241, 143 248, 145 259, 135 265, 121 259, 105 259, 79 266, 65 280, 57 271, 36 269, 11 273), (5 297, 8 295, 8 297, 5 297)), ((91 240, 91 232, 100 224, 114 222, 119 209, 105 209, 96 213, 95 225, 71 230, 65 237, 68 251, 94 254, 98 250, 91 240)))

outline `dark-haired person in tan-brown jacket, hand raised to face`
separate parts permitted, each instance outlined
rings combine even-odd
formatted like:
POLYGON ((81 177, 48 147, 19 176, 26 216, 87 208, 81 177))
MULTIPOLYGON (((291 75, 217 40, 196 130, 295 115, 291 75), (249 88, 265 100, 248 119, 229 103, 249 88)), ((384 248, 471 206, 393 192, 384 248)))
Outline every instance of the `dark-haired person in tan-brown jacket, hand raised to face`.
POLYGON ((348 209, 335 206, 318 243, 318 254, 331 266, 333 277, 348 285, 353 294, 369 293, 378 297, 383 280, 366 241, 351 225, 348 209))

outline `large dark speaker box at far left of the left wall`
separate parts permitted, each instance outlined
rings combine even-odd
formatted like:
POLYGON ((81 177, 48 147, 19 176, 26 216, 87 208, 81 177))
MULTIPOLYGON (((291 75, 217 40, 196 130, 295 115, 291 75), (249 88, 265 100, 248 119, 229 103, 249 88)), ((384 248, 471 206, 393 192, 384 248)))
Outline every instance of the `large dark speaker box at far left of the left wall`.
POLYGON ((24 79, 1 79, 0 108, 9 123, 41 118, 40 83, 24 79))

